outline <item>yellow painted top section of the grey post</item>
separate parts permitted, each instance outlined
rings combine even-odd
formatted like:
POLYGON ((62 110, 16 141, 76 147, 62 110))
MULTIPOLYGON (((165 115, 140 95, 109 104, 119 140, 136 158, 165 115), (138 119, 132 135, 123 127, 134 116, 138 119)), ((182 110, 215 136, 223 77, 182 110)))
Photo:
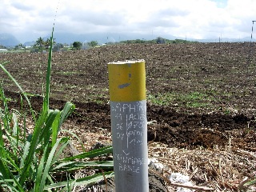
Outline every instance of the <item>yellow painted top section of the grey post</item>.
POLYGON ((110 101, 136 102, 146 100, 145 61, 108 63, 110 101))

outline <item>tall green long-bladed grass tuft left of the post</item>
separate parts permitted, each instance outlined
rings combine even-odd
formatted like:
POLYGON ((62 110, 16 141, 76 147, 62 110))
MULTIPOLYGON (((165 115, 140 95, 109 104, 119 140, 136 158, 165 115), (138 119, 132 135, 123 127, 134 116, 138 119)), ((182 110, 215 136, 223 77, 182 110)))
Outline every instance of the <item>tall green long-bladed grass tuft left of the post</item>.
MULTIPOLYGON (((71 191, 79 185, 87 185, 102 180, 104 177, 113 177, 113 162, 84 162, 84 158, 94 158, 112 153, 112 146, 84 152, 74 157, 59 158, 62 151, 70 143, 70 138, 60 137, 62 124, 72 114, 75 106, 66 102, 63 110, 51 110, 50 100, 50 72, 53 47, 53 34, 50 38, 50 50, 46 73, 46 93, 44 93, 41 112, 34 114, 28 94, 18 84, 15 78, 6 70, 8 62, 0 63, 0 68, 10 77, 20 90, 22 97, 29 104, 30 114, 33 117, 34 129, 31 134, 26 133, 26 111, 19 113, 10 110, 8 99, 0 85, 0 191, 71 191), (22 122, 23 121, 23 122, 22 122), (23 126, 19 126, 22 122, 23 126), (75 170, 99 167, 102 170, 111 170, 90 177, 74 179, 70 174, 75 170), (58 175, 65 174, 64 179, 58 175)), ((22 100, 23 101, 23 100, 22 100)), ((23 106, 23 103, 21 103, 23 106)), ((69 132, 68 130, 66 130, 69 132)), ((74 134, 73 134, 74 135, 74 134)), ((78 138, 77 135, 75 135, 78 138)))

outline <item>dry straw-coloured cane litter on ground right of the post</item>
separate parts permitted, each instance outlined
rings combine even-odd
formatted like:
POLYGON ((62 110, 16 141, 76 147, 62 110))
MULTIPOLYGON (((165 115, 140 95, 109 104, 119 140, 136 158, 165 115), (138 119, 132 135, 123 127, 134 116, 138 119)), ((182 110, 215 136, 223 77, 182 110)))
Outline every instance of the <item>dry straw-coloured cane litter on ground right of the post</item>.
MULTIPOLYGON (((188 175, 194 186, 207 186, 214 191, 246 190, 245 181, 256 176, 256 150, 242 150, 232 143, 226 149, 186 150, 153 142, 149 145, 149 154, 165 166, 162 177, 178 172, 188 175)), ((255 186, 251 189, 256 190, 255 186)))

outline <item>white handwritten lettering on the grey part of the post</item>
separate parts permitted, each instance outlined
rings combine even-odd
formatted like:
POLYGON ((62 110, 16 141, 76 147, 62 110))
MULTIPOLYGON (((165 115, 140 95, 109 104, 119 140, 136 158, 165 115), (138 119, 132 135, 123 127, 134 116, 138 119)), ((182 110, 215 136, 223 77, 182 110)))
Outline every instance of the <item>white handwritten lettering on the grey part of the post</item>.
POLYGON ((118 170, 139 173, 142 165, 147 166, 147 160, 142 154, 130 153, 130 150, 143 146, 146 134, 146 102, 113 103, 110 109, 111 117, 114 117, 114 120, 111 119, 112 133, 118 145, 123 147, 123 150, 115 152, 114 161, 118 162, 118 170))

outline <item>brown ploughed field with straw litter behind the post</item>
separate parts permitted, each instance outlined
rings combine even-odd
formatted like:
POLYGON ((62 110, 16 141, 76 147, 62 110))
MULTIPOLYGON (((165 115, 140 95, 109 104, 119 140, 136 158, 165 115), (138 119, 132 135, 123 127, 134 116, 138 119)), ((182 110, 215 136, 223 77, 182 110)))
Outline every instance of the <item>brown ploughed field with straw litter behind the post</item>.
MULTIPOLYGON (((22 88, 42 94, 47 54, 6 53, 22 88)), ((50 106, 76 110, 66 128, 88 147, 111 142, 107 63, 144 59, 150 157, 194 185, 238 190, 256 177, 256 59, 250 43, 114 45, 53 54, 50 106)), ((18 89, 0 72, 10 105, 18 89)), ((35 110, 42 98, 31 97, 35 110)), ((79 148, 79 146, 78 146, 79 148)))

